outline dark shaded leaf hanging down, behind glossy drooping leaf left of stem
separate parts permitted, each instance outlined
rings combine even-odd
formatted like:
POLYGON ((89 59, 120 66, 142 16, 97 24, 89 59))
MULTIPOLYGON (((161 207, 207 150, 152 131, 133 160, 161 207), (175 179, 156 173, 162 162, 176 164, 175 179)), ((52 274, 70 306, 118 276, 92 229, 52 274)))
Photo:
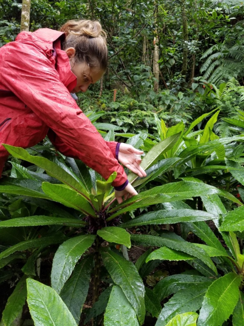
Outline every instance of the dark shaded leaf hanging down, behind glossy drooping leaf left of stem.
POLYGON ((60 297, 72 313, 77 324, 88 293, 92 267, 92 257, 83 259, 75 266, 72 277, 65 283, 60 292, 60 297))

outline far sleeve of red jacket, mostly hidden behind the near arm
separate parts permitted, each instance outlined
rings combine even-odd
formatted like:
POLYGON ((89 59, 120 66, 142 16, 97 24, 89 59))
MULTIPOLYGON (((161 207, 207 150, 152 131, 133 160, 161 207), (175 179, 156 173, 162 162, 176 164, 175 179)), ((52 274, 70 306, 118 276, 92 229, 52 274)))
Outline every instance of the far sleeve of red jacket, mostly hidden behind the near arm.
MULTIPOLYGON (((48 130, 48 138, 50 140, 50 142, 55 146, 55 148, 62 154, 64 154, 65 156, 68 157, 72 157, 72 158, 78 158, 79 153, 77 153, 74 149, 72 149, 71 147, 68 147, 63 141, 62 139, 60 139, 58 137, 58 135, 51 129, 48 130)), ((111 150, 113 156, 116 158, 116 146, 117 146, 117 142, 106 142, 107 146, 109 147, 109 149, 111 150)))

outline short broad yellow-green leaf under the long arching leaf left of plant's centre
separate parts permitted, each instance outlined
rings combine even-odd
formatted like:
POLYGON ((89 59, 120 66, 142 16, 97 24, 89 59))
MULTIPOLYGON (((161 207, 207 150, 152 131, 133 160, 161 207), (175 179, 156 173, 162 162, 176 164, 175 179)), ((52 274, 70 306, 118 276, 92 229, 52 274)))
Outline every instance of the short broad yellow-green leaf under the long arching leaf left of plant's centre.
POLYGON ((97 216, 92 206, 82 196, 64 184, 43 182, 42 189, 48 197, 56 202, 75 208, 86 215, 97 216))

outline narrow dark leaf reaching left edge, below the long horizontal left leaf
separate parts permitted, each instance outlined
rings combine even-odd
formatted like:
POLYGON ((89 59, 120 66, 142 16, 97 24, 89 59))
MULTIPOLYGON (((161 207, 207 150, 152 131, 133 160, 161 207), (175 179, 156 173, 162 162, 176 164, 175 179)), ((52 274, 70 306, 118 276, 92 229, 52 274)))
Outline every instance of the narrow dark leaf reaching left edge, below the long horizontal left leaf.
POLYGON ((23 251, 29 248, 38 248, 42 246, 49 246, 50 244, 63 242, 65 239, 64 236, 51 235, 45 236, 39 239, 31 239, 19 242, 14 246, 6 249, 0 254, 0 259, 8 257, 9 255, 15 253, 16 251, 23 251))

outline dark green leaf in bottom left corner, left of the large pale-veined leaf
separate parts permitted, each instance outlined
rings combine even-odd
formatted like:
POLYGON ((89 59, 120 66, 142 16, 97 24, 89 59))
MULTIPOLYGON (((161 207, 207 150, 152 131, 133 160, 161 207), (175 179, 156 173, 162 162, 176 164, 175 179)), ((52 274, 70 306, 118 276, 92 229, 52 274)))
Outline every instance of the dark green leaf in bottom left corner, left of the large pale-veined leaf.
POLYGON ((23 276, 16 285, 13 293, 8 298, 7 305, 4 309, 3 321, 5 326, 11 326, 17 316, 22 313, 26 295, 26 276, 23 276))

